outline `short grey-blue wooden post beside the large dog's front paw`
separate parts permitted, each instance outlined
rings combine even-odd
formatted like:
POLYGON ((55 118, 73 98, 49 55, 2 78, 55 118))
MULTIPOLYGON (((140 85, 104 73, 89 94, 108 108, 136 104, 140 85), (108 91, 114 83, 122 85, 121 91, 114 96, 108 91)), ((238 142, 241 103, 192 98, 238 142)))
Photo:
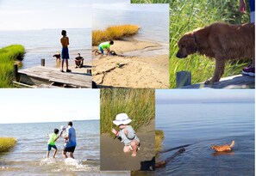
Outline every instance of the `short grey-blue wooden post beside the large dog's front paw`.
POLYGON ((189 71, 178 71, 176 73, 176 88, 191 85, 191 73, 189 71))

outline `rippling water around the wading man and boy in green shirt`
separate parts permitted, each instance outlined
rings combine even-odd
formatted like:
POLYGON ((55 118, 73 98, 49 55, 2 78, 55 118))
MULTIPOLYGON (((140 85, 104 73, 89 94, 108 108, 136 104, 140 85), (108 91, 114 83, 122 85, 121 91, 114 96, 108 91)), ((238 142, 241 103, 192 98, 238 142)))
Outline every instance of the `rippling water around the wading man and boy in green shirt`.
MULTIPOLYGON (((77 132, 75 160, 62 159, 63 139, 58 139, 57 159, 46 159, 47 133, 66 122, 0 124, 1 137, 16 137, 17 144, 0 155, 0 175, 109 175, 99 171, 99 120, 74 121, 77 132), (91 161, 90 161, 91 160, 91 161), (65 174, 64 174, 65 173, 65 174)), ((53 156, 53 150, 50 153, 53 156)), ((128 173, 122 173, 125 175, 128 173)), ((116 175, 111 173, 110 175, 116 175)))

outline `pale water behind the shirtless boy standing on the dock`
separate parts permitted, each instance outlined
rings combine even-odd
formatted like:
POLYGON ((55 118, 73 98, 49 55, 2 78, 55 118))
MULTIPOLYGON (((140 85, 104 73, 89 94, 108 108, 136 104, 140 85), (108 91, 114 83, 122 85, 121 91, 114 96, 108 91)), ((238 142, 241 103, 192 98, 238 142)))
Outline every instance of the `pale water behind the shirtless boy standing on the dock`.
MULTIPOLYGON (((46 59, 46 66, 56 67, 53 54, 60 52, 62 29, 0 31, 0 48, 13 44, 25 46, 26 54, 23 68, 38 66, 41 58, 46 59)), ((70 39, 70 62, 80 52, 85 61, 91 61, 91 28, 66 29, 70 39)), ((72 63, 73 64, 73 63, 72 63)))

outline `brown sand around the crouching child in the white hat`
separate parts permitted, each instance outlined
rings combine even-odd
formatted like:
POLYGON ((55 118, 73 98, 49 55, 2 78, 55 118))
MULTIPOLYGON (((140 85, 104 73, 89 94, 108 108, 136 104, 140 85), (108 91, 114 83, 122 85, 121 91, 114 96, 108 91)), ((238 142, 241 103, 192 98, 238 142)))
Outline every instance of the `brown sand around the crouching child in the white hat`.
POLYGON ((136 157, 124 154, 123 143, 119 139, 113 139, 108 134, 101 135, 101 170, 144 170, 150 171, 154 169, 154 120, 151 124, 141 127, 136 131, 140 138, 140 150, 136 157))

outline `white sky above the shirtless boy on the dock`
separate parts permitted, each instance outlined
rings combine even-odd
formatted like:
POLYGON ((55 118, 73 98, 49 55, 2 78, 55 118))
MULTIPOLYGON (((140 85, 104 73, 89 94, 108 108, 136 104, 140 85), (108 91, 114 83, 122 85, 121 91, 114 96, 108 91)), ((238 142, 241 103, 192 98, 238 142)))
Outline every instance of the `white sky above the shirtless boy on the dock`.
POLYGON ((91 27, 91 2, 0 0, 0 30, 88 28, 91 27))

